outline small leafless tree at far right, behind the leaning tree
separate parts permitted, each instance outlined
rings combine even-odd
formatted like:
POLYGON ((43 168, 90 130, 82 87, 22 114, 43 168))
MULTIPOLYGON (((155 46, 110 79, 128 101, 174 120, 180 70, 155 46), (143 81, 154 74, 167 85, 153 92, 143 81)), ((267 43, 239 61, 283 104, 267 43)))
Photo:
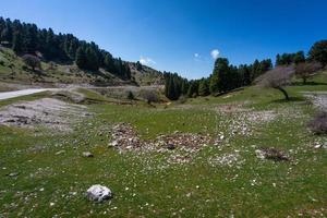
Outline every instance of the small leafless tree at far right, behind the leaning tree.
POLYGON ((319 62, 302 62, 295 68, 295 75, 303 80, 303 85, 306 84, 306 80, 312 77, 314 73, 322 70, 323 65, 319 62))

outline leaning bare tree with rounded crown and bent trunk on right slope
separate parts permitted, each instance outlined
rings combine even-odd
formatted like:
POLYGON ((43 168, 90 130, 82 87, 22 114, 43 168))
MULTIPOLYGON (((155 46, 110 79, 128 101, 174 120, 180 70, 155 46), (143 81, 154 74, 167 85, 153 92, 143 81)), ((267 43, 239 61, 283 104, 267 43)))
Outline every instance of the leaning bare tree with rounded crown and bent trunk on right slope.
POLYGON ((257 78, 257 84, 266 88, 276 88, 280 90, 286 100, 289 100, 290 97, 284 89, 284 86, 291 83, 292 75, 294 74, 295 69, 292 65, 288 66, 276 66, 275 69, 266 72, 257 78))

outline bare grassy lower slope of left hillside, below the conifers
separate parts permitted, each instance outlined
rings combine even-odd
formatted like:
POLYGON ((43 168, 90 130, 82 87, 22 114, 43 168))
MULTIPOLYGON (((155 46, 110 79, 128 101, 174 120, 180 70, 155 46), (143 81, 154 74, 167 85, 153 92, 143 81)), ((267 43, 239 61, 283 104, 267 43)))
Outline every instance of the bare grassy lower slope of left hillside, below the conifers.
POLYGON ((64 85, 82 86, 116 86, 116 85, 158 85, 162 84, 162 74, 148 66, 142 70, 129 62, 132 80, 122 80, 119 76, 99 69, 98 71, 81 70, 75 64, 64 64, 52 61, 41 61, 41 70, 32 71, 16 56, 12 49, 0 46, 0 82, 17 83, 22 85, 56 87, 64 85))

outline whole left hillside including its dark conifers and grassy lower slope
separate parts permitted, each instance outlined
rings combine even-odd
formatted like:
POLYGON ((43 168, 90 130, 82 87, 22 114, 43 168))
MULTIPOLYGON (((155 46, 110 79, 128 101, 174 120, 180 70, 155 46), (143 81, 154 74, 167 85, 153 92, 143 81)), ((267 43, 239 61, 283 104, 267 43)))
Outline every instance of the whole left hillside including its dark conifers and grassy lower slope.
POLYGON ((1 16, 0 80, 41 86, 164 84, 159 71, 116 58, 94 41, 1 16), (28 68, 26 60, 24 64, 26 56, 37 65, 41 61, 40 68, 28 68))

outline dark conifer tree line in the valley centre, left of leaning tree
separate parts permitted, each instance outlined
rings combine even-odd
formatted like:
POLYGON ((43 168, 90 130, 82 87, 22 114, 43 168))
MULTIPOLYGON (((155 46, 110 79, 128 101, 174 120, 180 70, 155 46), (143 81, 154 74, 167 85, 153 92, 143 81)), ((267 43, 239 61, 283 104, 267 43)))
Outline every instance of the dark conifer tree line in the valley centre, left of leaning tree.
POLYGON ((209 77, 189 81, 177 73, 165 72, 165 95, 170 100, 175 100, 180 96, 197 97, 229 92, 250 85, 257 76, 271 68, 270 59, 255 60, 252 64, 235 66, 230 64, 228 59, 218 58, 209 77))

